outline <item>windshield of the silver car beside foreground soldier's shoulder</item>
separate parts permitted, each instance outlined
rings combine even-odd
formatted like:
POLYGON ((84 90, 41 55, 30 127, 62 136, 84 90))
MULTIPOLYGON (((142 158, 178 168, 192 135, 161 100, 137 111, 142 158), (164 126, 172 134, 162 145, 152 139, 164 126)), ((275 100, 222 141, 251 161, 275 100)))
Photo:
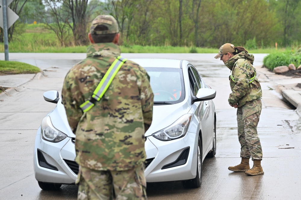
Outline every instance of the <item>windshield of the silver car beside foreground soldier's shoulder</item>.
POLYGON ((154 104, 175 104, 185 99, 182 69, 146 67, 154 104))

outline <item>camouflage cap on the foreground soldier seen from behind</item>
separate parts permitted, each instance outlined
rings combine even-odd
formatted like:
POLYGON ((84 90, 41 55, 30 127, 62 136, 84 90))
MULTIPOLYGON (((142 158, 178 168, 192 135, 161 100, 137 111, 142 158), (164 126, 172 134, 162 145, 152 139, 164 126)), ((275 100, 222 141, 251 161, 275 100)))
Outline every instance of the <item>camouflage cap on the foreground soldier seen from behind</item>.
POLYGON ((111 15, 98 15, 91 23, 90 33, 94 35, 118 33, 118 24, 116 19, 111 15), (108 30, 95 31, 96 26, 107 26, 108 30))

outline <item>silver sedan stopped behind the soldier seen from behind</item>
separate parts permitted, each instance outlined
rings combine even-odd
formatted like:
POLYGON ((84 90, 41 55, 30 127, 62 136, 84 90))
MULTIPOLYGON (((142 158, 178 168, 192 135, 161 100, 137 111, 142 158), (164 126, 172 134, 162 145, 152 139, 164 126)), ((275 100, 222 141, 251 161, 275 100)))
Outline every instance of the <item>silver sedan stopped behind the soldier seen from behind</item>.
MULTIPOLYGON (((132 59, 150 75, 154 92, 153 122, 145 133, 147 182, 182 181, 199 187, 202 162, 216 154, 216 91, 186 60, 132 59)), ((34 146, 35 177, 42 189, 74 184, 75 134, 57 91, 44 93, 57 106, 42 120, 34 146)))

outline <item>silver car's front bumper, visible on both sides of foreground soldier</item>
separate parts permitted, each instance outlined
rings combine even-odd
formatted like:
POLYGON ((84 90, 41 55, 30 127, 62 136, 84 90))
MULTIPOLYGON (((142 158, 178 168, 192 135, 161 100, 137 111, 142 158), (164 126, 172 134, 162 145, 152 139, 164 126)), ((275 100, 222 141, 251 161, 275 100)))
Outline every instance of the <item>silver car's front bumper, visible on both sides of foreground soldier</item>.
MULTIPOLYGON (((51 143, 43 140, 40 133, 39 128, 33 159, 36 180, 45 183, 74 184, 78 165, 74 161, 76 153, 73 139, 67 137, 61 142, 51 143), (42 166, 41 158, 38 158, 41 153, 46 161, 46 164, 42 166), (51 166, 56 169, 51 169, 51 166)), ((198 135, 191 132, 188 132, 185 137, 172 141, 160 141, 152 136, 147 137, 145 151, 148 164, 144 171, 146 181, 165 182, 195 178, 197 140, 198 135)))

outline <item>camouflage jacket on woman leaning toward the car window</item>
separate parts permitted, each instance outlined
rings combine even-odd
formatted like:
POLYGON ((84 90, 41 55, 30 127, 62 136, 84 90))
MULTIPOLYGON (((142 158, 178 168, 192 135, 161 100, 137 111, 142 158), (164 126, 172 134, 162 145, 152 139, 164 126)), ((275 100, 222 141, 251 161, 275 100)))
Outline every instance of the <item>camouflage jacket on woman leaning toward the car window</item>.
POLYGON ((238 107, 241 107, 246 102, 261 99, 262 90, 257 75, 250 82, 256 73, 256 69, 252 66, 253 61, 254 56, 243 51, 234 55, 225 63, 234 78, 233 81, 231 75, 229 76, 232 91, 228 99, 229 104, 238 103, 238 107))

